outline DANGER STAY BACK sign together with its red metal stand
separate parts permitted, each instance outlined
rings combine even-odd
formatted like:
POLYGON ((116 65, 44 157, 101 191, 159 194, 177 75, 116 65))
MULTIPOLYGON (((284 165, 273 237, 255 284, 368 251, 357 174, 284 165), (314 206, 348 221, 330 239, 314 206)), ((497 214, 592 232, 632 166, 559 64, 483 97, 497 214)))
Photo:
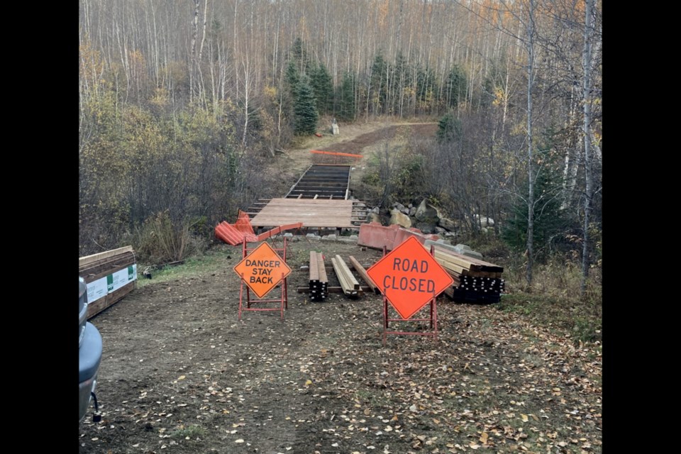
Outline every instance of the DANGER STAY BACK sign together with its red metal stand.
POLYGON ((280 311, 284 320, 284 309, 289 308, 288 285, 286 277, 291 273, 291 268, 286 264, 286 238, 284 247, 272 248, 268 243, 261 243, 257 248, 247 248, 246 238, 243 239, 243 260, 234 266, 234 271, 241 279, 239 290, 239 320, 242 311, 280 311), (284 257, 277 254, 277 250, 283 251, 284 257), (272 291, 279 282, 282 282, 282 292, 279 298, 263 299, 272 291), (246 307, 243 307, 243 293, 245 288, 246 307), (253 291, 258 299, 250 299, 253 291), (279 307, 251 307, 255 303, 279 303, 279 307))

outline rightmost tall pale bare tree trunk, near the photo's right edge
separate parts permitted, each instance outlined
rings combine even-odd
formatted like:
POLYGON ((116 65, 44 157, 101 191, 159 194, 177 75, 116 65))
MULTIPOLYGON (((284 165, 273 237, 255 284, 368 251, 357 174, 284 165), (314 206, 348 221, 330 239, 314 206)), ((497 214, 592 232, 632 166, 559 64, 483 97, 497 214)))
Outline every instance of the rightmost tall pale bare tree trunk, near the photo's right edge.
POLYGON ((593 174, 591 156, 591 41, 592 41, 592 10, 594 0, 587 0, 586 18, 584 24, 584 170, 585 170, 585 200, 584 200, 584 245, 582 250, 582 284, 581 293, 584 296, 589 279, 589 218, 592 211, 593 174))

